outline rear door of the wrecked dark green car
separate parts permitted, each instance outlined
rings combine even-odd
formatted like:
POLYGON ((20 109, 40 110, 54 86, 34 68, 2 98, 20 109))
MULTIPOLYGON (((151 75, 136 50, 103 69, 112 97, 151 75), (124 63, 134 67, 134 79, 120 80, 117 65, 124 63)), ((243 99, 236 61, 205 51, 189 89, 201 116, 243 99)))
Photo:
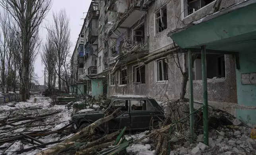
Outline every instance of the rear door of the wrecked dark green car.
POLYGON ((132 129, 149 129, 155 119, 155 109, 147 99, 130 100, 132 129))

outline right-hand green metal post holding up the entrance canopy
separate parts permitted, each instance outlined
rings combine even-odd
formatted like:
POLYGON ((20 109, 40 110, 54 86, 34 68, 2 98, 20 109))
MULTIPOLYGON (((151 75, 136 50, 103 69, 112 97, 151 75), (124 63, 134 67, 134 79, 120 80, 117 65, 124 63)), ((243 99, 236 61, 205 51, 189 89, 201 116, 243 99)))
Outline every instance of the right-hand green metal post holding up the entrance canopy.
POLYGON ((204 144, 208 144, 208 94, 207 94, 207 72, 206 72, 206 46, 201 46, 202 57, 202 82, 203 82, 203 117, 204 117, 204 144))

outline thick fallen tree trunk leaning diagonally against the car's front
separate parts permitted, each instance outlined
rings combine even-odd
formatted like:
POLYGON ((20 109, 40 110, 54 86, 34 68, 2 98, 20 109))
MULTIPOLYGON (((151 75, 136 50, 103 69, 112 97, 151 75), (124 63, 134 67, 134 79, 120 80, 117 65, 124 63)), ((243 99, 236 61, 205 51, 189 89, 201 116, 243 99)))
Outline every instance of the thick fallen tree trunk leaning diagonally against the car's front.
POLYGON ((55 155, 55 154, 60 153, 64 149, 72 146, 74 144, 74 142, 76 140, 80 139, 81 137, 86 136, 88 134, 89 135, 93 134, 95 128, 99 127, 99 125, 101 125, 102 123, 110 121, 111 119, 116 117, 116 115, 118 114, 118 112, 120 112, 120 110, 121 110, 121 107, 116 109, 111 115, 108 115, 107 117, 103 117, 101 119, 98 119, 97 121, 95 121, 91 125, 85 127, 84 129, 80 130, 79 132, 77 132, 76 134, 71 136, 70 138, 68 138, 66 140, 63 140, 62 142, 60 142, 56 146, 52 146, 52 147, 50 147, 46 150, 40 151, 36 155, 55 155))

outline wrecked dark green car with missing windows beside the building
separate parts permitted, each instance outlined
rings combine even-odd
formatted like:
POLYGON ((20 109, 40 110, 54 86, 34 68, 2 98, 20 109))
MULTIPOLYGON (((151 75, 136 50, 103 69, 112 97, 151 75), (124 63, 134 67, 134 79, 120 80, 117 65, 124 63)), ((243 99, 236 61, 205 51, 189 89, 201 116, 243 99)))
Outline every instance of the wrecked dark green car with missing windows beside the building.
POLYGON ((111 114, 121 107, 117 117, 103 123, 99 130, 119 130, 127 127, 129 130, 148 130, 158 127, 163 120, 163 112, 153 98, 111 97, 105 111, 89 111, 73 115, 75 129, 83 129, 102 117, 111 114))

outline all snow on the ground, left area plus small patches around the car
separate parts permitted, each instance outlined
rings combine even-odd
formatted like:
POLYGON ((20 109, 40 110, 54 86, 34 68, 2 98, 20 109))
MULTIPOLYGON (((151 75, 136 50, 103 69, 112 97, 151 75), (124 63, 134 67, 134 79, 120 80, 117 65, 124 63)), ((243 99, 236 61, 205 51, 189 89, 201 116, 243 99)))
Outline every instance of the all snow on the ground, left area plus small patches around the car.
MULTIPOLYGON (((22 133, 29 133, 33 131, 39 131, 39 130, 50 130, 50 131, 56 131, 58 129, 61 129, 62 127, 68 125, 71 121, 71 116, 72 116, 72 108, 70 110, 65 109, 65 105, 52 105, 50 104, 50 98, 43 97, 43 96, 35 96, 37 98, 37 102, 33 102, 34 98, 31 98, 27 100, 27 102, 10 102, 8 104, 0 105, 0 119, 3 119, 4 117, 14 116, 12 119, 17 119, 21 118, 24 115, 29 115, 29 116, 34 116, 38 117, 40 115, 45 115, 49 113, 54 113, 54 112, 59 112, 54 115, 49 115, 46 116, 43 121, 36 121, 33 122, 31 125, 34 126, 29 126, 29 125, 19 125, 21 123, 26 123, 31 120, 25 120, 25 121, 19 121, 16 123, 13 123, 15 125, 18 125, 17 127, 12 127, 10 125, 5 125, 0 127, 0 140, 3 139, 6 136, 18 136, 20 132, 22 133), (14 105, 14 107, 10 107, 8 105, 14 105), (36 110, 29 110, 32 108, 37 108, 36 110), (13 130, 8 131, 4 128, 11 128, 13 130), (6 132, 8 131, 8 132, 6 132)), ((80 112, 89 112, 92 110, 95 110, 99 108, 99 105, 94 104, 92 108, 89 106, 86 107, 87 109, 81 110, 80 112)), ((1 125, 1 124, 0 124, 1 125)), ((133 134, 133 135, 126 135, 126 139, 134 138, 134 140, 141 138, 145 136, 145 134, 148 131, 141 132, 138 134, 133 134)), ((40 137, 35 137, 38 140, 47 143, 47 142, 54 142, 57 140, 64 140, 70 136, 73 136, 74 133, 71 133, 69 135, 63 135, 63 134, 50 134, 47 136, 40 136, 40 137)), ((149 143, 149 139, 144 139, 142 142, 138 144, 132 144, 130 147, 128 147, 126 150, 130 155, 153 155, 155 150, 151 150, 151 146, 149 143)), ((48 145, 46 148, 54 146, 56 144, 51 144, 48 145)), ((32 144, 24 143, 21 140, 16 140, 12 144, 12 142, 8 142, 5 144, 0 144, 0 147, 9 147, 6 149, 5 153, 7 155, 13 155, 15 154, 16 151, 20 150, 22 147, 24 149, 33 147, 32 144), (11 146, 10 146, 11 145, 11 146), (10 147, 9 147, 10 146, 10 147)), ((0 150, 0 154, 2 154, 2 150, 0 150)), ((40 150, 39 149, 33 149, 28 152, 21 153, 20 155, 35 155, 38 153, 40 150)))

